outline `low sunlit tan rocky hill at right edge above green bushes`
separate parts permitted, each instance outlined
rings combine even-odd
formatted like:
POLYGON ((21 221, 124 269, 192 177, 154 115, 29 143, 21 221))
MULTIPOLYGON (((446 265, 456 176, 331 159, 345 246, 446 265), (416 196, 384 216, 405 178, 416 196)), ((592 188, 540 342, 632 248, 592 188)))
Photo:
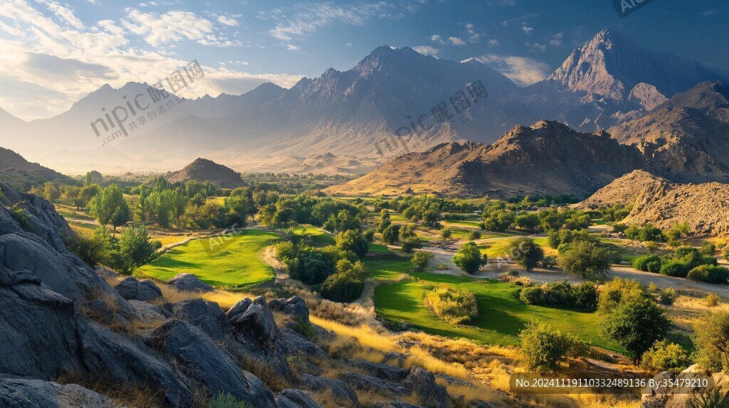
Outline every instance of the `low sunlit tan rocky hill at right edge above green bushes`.
POLYGON ((634 171, 601 188, 578 204, 582 208, 632 204, 623 223, 652 223, 660 228, 687 222, 700 234, 729 234, 729 185, 680 184, 634 171))

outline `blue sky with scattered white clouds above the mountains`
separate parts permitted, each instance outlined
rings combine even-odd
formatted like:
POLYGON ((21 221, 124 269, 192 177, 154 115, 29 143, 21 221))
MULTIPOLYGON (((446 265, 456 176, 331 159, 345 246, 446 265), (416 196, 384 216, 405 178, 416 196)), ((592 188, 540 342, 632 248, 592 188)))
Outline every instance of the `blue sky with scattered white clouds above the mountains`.
POLYGON ((655 0, 624 18, 610 0, 0 0, 0 108, 48 118, 104 84, 152 84, 192 60, 206 75, 185 97, 292 87, 381 45, 475 57, 526 86, 603 28, 726 73, 728 18, 722 0, 655 0))

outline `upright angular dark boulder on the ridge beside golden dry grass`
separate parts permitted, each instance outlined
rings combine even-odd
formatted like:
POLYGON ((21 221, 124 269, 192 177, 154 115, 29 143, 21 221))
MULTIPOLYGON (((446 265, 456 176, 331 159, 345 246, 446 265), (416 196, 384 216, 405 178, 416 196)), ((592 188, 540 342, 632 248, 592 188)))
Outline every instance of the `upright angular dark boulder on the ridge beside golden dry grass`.
POLYGON ((259 345, 271 345, 278 335, 273 313, 262 296, 238 301, 227 317, 236 331, 252 335, 259 345))

